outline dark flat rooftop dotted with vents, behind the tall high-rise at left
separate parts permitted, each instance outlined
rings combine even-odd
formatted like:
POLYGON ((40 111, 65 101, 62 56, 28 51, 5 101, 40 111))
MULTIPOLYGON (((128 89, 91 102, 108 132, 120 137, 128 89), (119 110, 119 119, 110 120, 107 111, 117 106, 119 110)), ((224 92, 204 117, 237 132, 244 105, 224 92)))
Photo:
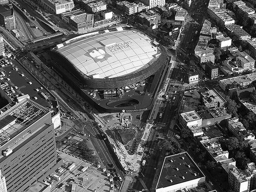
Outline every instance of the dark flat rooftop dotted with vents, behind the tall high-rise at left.
POLYGON ((0 72, 3 71, 6 76, 4 76, 3 80, 0 80, 0 84, 4 82, 8 83, 8 86, 4 87, 3 90, 5 93, 9 95, 9 97, 14 101, 16 97, 20 97, 23 94, 28 94, 30 98, 37 102, 39 105, 44 106, 50 110, 53 110, 55 113, 57 112, 57 106, 55 98, 49 94, 48 90, 46 90, 37 79, 35 79, 25 68, 22 67, 17 61, 11 60, 12 65, 7 65, 5 67, 0 68, 0 72), (16 71, 14 68, 18 68, 16 71), (22 74, 24 76, 22 76, 22 74), (8 79, 10 80, 8 80, 8 79), (32 84, 29 84, 31 82, 32 84), (17 87, 18 89, 14 88, 17 87), (13 88, 13 91, 11 91, 13 88), (38 91, 37 91, 38 89, 38 91), (48 99, 42 97, 41 93, 47 95, 48 99), (35 97, 37 99, 35 100, 35 97), (53 108, 51 108, 51 105, 53 108))

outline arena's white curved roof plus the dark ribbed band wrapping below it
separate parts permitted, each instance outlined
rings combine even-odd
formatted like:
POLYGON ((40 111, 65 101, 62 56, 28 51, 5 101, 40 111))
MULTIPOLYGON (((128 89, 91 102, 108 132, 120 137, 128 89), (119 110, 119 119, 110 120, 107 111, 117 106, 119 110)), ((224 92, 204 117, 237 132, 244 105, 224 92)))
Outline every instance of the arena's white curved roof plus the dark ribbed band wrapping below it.
POLYGON ((155 64, 162 56, 162 48, 152 42, 141 31, 116 30, 81 35, 57 45, 53 51, 68 61, 89 87, 104 89, 123 86, 122 81, 136 83, 154 74, 166 57, 155 64))

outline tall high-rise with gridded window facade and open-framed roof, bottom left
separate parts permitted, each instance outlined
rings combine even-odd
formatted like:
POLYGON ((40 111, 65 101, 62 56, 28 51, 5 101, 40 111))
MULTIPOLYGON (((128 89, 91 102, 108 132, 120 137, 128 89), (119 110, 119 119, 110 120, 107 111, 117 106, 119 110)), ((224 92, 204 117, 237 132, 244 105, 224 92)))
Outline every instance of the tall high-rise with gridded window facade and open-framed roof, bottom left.
POLYGON ((51 112, 28 98, 10 103, 1 109, 0 128, 0 170, 7 191, 23 192, 56 165, 51 112))

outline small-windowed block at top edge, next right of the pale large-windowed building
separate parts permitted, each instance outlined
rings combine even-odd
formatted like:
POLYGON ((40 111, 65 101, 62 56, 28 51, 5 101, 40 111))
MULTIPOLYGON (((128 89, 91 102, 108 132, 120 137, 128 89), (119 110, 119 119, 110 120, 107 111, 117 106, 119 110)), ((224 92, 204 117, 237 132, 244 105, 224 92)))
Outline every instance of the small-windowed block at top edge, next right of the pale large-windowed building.
POLYGON ((107 4, 102 0, 80 0, 79 2, 81 9, 90 14, 107 9, 107 4))

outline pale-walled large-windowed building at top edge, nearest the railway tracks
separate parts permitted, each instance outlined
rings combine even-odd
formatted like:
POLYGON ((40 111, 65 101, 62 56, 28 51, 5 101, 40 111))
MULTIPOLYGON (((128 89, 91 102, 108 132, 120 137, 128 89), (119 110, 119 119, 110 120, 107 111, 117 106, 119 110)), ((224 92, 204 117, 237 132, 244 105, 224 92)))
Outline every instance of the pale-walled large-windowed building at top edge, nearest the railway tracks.
POLYGON ((42 7, 53 14, 62 14, 74 8, 73 0, 39 0, 42 7))

